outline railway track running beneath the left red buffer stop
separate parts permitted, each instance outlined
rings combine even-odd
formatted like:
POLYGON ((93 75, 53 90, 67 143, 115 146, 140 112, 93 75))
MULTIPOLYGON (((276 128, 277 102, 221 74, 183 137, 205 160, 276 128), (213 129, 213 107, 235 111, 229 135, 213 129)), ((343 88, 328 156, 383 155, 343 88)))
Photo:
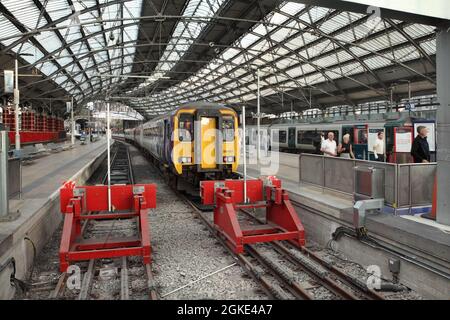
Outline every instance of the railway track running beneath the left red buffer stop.
MULTIPOLYGON (((126 144, 116 142, 112 148, 111 157, 111 185, 134 184, 133 167, 126 144)), ((102 184, 108 180, 107 172, 99 179, 102 184)), ((93 215, 96 212, 91 213, 93 215)), ((85 237, 128 237, 134 236, 137 230, 137 219, 120 220, 95 220, 87 219, 82 226, 82 234, 85 237)), ((151 300, 158 299, 151 267, 143 265, 140 257, 121 257, 116 259, 91 259, 87 265, 80 263, 83 268, 81 287, 76 297, 78 300, 90 299, 120 299, 129 300, 136 297, 151 300), (133 272, 131 272, 133 271, 133 272), (130 290, 133 280, 147 278, 146 287, 130 290), (142 292, 146 291, 146 294, 142 292)), ((63 273, 50 293, 49 298, 61 299, 64 297, 66 285, 69 279, 67 273, 63 273)))

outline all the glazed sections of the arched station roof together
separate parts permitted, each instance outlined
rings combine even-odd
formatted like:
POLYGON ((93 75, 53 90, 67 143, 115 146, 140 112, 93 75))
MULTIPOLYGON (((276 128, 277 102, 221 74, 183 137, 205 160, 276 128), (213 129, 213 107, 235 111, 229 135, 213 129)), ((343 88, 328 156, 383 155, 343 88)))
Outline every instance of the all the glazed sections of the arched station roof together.
MULTIPOLYGON (((127 92, 114 92, 114 88, 125 81, 120 76, 130 74, 133 66, 139 21, 145 18, 140 17, 143 0, 1 0, 7 11, 0 10, 0 43, 6 50, 30 53, 23 59, 47 76, 39 81, 51 79, 78 102, 104 96, 109 88, 148 117, 196 100, 252 101, 256 70, 263 96, 335 84, 339 79, 386 96, 388 88, 374 71, 392 65, 435 81, 407 65, 417 59, 434 64, 434 27, 280 1, 263 21, 255 21, 251 30, 196 74, 162 91, 133 98, 166 79, 194 46, 205 45, 198 41, 199 35, 206 26, 225 19, 218 12, 231 1, 186 1, 153 74, 127 92), (361 82, 356 77, 361 73, 379 85, 361 82)), ((308 100, 308 94, 303 95, 308 100)))

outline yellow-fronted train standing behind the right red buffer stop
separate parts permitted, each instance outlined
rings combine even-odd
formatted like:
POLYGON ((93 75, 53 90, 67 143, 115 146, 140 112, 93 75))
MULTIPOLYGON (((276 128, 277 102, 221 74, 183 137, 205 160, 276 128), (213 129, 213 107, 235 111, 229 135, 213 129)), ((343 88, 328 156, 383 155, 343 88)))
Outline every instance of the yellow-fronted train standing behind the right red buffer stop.
POLYGON ((192 103, 127 132, 173 177, 197 184, 238 169, 238 116, 229 107, 192 103))

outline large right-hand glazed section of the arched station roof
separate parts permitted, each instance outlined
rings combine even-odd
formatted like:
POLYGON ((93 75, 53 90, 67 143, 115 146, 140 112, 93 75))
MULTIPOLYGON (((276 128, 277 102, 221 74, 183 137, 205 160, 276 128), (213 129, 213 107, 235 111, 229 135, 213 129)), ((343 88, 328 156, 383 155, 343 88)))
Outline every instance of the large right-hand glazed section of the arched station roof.
MULTIPOLYGON (((197 99, 245 103, 256 99, 257 69, 263 96, 341 78, 356 82, 356 74, 390 65, 408 69, 406 62, 424 56, 431 60, 434 29, 287 1, 197 74, 133 104, 162 113, 197 99)), ((388 94, 388 88, 360 85, 388 94)))

